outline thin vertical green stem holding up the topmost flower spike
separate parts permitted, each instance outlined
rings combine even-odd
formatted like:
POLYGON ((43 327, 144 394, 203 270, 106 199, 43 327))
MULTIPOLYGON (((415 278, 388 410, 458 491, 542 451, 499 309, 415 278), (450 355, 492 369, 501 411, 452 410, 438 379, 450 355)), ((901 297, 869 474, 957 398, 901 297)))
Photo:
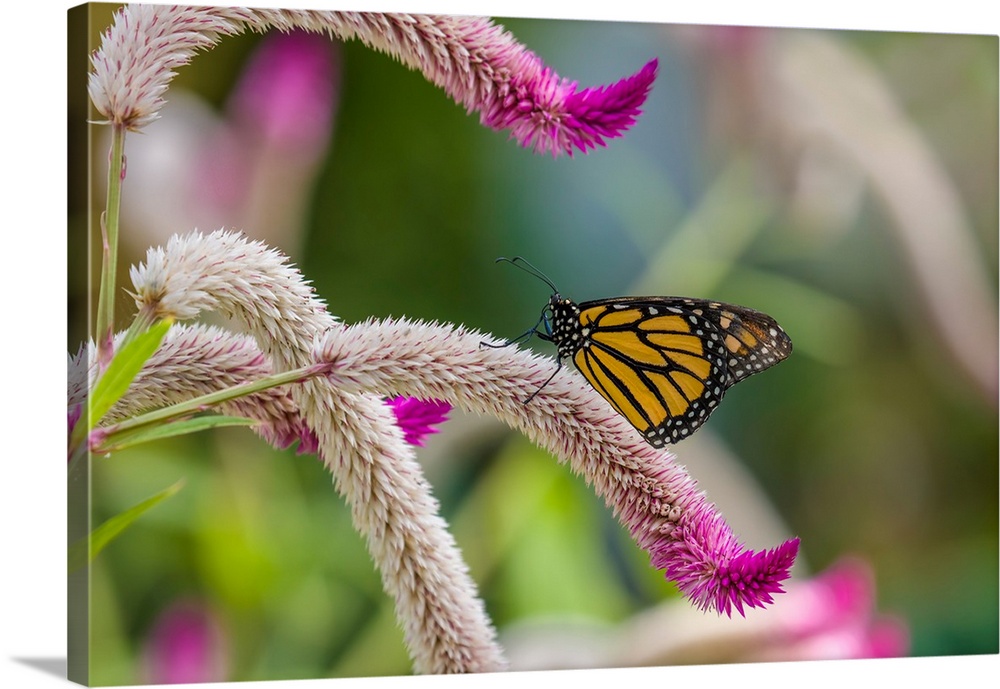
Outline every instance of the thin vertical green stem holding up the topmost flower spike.
POLYGON ((121 215, 122 181, 125 178, 125 127, 111 126, 108 155, 108 198, 101 215, 101 288, 97 299, 97 361, 103 371, 114 353, 115 276, 118 270, 118 223, 121 215))

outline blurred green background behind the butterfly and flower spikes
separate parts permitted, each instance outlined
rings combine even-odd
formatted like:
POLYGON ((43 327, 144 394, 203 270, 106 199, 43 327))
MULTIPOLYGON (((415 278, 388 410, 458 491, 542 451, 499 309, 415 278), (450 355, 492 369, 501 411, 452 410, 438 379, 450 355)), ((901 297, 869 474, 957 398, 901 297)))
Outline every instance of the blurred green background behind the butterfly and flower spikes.
MULTIPOLYGON (((93 7, 90 49, 113 8, 93 7)), ((498 21, 581 86, 658 57, 635 127, 587 155, 532 154, 420 74, 338 45, 329 147, 299 186, 296 232, 276 243, 347 322, 520 334, 548 290, 495 266, 501 255, 528 257, 577 301, 680 294, 772 314, 794 354, 730 391, 679 461, 751 547, 799 536, 797 575, 867 560, 913 655, 996 653, 997 38, 498 21), (770 530, 715 486, 749 494, 770 530)), ((222 40, 167 99, 222 113, 262 40, 222 40)), ((71 127, 88 116, 71 110, 71 127)), ((130 147, 160 126, 129 137, 130 172, 130 147)), ((126 198, 140 186, 127 179, 126 198)), ((86 236, 85 191, 71 185, 71 243, 86 236)), ((138 224, 123 231, 144 236, 138 224)), ((125 267, 164 239, 126 247, 125 267)), ((82 260, 70 278, 75 353, 82 260)), ((120 304, 124 324, 133 309, 120 304)), ((580 477, 499 422, 453 416, 419 456, 502 634, 616 623, 676 596, 580 477)), ((92 567, 94 684, 143 681, 150 630, 178 600, 212 611, 228 679, 409 672, 391 602, 314 457, 233 430, 95 458, 94 523, 180 478, 92 567)))

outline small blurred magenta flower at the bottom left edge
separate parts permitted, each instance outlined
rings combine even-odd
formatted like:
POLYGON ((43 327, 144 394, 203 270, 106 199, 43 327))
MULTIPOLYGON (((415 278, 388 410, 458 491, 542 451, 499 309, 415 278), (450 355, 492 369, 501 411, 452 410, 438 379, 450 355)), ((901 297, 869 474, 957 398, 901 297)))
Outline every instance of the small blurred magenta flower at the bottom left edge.
POLYGON ((201 602, 181 601, 156 620, 146 640, 145 680, 150 684, 224 682, 225 635, 201 602))

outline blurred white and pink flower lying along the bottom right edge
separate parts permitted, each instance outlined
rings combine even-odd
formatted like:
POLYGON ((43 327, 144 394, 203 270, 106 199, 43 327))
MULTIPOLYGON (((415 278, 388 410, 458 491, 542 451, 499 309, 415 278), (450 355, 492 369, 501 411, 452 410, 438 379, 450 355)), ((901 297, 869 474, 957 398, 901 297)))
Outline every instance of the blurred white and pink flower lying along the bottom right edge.
POLYGON ((703 615, 671 601, 604 628, 544 620, 509 630, 513 670, 718 665, 762 661, 892 658, 909 652, 906 624, 875 607, 873 574, 846 558, 791 581, 767 612, 746 619, 703 615))

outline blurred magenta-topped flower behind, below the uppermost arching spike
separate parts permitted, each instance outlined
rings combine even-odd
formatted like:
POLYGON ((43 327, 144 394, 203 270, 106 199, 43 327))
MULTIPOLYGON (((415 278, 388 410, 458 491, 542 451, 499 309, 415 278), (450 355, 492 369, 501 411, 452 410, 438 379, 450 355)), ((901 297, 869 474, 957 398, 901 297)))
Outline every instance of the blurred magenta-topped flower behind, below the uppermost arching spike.
MULTIPOLYGON (((294 247, 316 170, 330 145, 340 88, 338 51, 325 36, 264 36, 182 171, 203 211, 194 226, 235 225, 294 247)), ((162 173, 161 173, 162 174, 162 173)), ((174 219, 176 220, 176 218, 174 219)))

